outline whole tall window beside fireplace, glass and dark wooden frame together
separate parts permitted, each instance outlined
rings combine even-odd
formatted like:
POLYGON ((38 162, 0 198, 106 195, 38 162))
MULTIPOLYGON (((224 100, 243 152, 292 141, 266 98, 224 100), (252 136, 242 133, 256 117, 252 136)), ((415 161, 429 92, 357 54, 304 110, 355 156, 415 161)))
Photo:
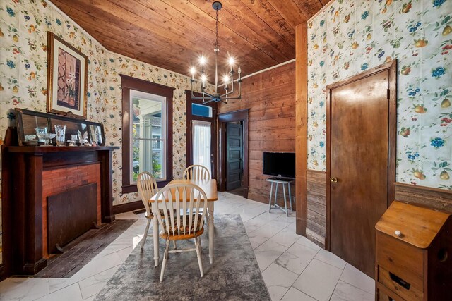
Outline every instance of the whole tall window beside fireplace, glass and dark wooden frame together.
POLYGON ((121 75, 122 192, 136 192, 138 173, 160 186, 172 180, 172 87, 121 75))

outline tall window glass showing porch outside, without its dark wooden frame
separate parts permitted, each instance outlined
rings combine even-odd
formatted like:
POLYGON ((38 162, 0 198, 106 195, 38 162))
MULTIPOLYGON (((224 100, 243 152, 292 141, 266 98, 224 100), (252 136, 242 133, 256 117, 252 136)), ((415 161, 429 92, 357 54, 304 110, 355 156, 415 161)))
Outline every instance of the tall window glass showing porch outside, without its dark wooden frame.
POLYGON ((131 104, 131 183, 136 183, 138 173, 149 171, 155 180, 166 178, 165 137, 166 98, 130 90, 131 104))

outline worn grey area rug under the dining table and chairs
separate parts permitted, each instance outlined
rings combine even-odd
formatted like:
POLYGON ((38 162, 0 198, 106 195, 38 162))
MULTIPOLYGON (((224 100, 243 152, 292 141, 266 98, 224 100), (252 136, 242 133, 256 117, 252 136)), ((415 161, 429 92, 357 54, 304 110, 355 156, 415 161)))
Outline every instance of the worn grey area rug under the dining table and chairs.
MULTIPOLYGON (((177 242, 178 248, 194 242, 177 242)), ((238 214, 215 215, 215 257, 208 257, 208 231, 202 235, 204 276, 195 252, 169 254, 163 282, 154 266, 152 238, 140 245, 110 278, 95 300, 270 300, 254 252, 238 214)), ((160 257, 164 250, 160 240, 160 257)))

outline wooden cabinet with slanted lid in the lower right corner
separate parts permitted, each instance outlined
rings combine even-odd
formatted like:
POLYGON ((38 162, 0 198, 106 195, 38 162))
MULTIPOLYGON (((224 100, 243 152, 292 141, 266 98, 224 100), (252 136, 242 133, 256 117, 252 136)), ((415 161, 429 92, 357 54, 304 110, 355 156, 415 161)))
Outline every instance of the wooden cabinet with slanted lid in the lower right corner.
POLYGON ((452 217, 393 202, 376 223, 376 300, 452 300, 452 217))

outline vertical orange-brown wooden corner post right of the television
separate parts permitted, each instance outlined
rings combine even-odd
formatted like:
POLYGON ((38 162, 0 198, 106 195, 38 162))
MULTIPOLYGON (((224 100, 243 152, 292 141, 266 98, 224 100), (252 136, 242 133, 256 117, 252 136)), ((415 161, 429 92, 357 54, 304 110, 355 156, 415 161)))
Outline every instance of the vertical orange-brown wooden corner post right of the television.
POLYGON ((295 27, 295 202, 297 234, 306 235, 307 228, 307 23, 295 27))

